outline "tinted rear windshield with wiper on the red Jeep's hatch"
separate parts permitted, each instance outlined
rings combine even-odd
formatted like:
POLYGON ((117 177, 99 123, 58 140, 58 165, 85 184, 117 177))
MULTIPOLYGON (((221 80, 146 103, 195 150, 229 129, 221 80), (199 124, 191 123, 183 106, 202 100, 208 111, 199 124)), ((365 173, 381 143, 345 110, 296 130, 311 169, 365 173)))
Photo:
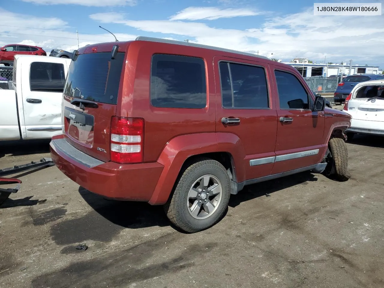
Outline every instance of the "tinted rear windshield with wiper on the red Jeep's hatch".
POLYGON ((81 54, 71 62, 64 94, 99 103, 115 104, 118 100, 125 53, 81 54))

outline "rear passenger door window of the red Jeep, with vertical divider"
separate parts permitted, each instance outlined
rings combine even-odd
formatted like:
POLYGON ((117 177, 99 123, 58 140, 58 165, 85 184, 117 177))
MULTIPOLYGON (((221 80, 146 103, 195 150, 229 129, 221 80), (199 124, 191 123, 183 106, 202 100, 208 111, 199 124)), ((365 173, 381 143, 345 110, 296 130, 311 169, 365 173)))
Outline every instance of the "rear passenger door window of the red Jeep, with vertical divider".
POLYGON ((269 108, 264 68, 220 62, 219 69, 224 108, 269 108))

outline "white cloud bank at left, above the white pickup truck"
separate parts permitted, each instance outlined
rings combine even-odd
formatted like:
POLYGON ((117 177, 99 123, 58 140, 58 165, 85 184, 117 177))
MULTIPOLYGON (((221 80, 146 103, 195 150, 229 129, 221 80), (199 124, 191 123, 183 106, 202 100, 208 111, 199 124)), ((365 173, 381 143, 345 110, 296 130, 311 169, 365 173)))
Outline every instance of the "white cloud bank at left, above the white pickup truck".
MULTIPOLYGON (((33 45, 42 47, 48 54, 52 49, 73 51, 78 48, 75 30, 75 28, 70 28, 67 22, 58 18, 39 18, 8 12, 0 8, 0 46, 6 44, 33 45), (69 29, 71 31, 67 31, 69 29)), ((103 30, 100 29, 100 31, 103 30)), ((114 34, 120 41, 134 40, 137 37, 124 33, 114 34)), ((114 41, 114 37, 107 32, 89 35, 79 31, 80 47, 108 41, 114 41)))

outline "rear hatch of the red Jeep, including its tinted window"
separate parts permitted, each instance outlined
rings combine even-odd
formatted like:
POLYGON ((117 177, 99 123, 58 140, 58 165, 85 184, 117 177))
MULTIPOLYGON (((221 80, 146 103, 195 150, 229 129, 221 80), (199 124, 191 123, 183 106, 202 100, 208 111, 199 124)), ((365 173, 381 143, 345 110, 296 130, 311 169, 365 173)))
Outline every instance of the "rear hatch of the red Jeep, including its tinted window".
POLYGON ((88 46, 71 62, 63 93, 63 130, 74 147, 108 162, 111 118, 116 115, 125 53, 118 52, 112 59, 113 44, 98 48, 88 46))

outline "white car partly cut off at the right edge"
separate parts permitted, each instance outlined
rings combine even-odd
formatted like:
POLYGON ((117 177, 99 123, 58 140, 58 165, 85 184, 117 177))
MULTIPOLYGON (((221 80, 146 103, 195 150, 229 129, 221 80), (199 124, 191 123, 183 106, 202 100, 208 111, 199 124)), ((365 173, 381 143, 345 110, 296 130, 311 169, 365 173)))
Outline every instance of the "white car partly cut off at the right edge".
POLYGON ((345 132, 384 136, 384 80, 357 84, 346 98, 344 111, 352 116, 351 127, 345 132))

